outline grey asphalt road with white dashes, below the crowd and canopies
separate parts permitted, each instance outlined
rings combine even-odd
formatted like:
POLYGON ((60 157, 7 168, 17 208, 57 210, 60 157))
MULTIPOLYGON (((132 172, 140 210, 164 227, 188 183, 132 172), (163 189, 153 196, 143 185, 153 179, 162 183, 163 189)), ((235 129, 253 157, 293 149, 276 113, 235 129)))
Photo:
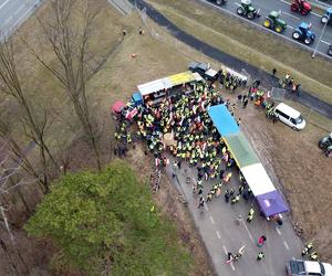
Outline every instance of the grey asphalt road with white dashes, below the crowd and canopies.
MULTIPOLYGON (((188 202, 188 208, 199 234, 206 245, 217 275, 220 276, 283 276, 286 275, 286 264, 291 258, 301 258, 303 244, 295 235, 290 216, 283 215, 283 225, 278 227, 276 222, 267 221, 259 216, 258 206, 253 202, 256 210, 251 223, 247 223, 246 217, 251 202, 245 202, 242 199, 236 205, 226 203, 224 193, 226 189, 238 189, 238 176, 231 177, 227 187, 222 188, 220 198, 214 199, 200 212, 198 198, 193 195, 191 184, 186 183, 186 173, 194 181, 197 178, 196 169, 188 168, 184 164, 181 170, 176 170, 177 178, 172 178, 172 166, 167 167, 167 174, 173 179, 180 194, 184 194, 188 202), (242 222, 237 225, 238 215, 243 217, 242 222), (267 236, 267 242, 262 247, 257 246, 260 235, 267 236), (235 263, 226 264, 227 253, 237 253, 245 245, 245 254, 235 263), (258 262, 257 255, 262 251, 266 258, 258 262)), ((273 177, 272 177, 273 179, 273 177)), ((210 190, 218 180, 204 182, 204 193, 210 190)), ((162 188, 163 189, 163 188, 162 188)))

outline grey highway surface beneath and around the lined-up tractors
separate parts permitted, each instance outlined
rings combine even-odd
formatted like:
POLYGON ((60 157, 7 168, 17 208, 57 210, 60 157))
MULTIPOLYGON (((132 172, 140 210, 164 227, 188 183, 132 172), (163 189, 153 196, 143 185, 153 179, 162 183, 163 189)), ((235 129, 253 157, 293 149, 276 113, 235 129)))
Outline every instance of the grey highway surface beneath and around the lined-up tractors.
POLYGON ((291 12, 290 1, 286 1, 286 0, 251 0, 252 6, 257 9, 260 9, 259 13, 261 14, 261 17, 256 18, 253 20, 248 20, 243 17, 237 15, 236 10, 240 6, 241 0, 228 0, 228 2, 224 6, 214 4, 215 2, 214 0, 200 0, 200 1, 214 8, 217 8, 222 12, 231 13, 232 15, 236 15, 241 20, 246 20, 248 21, 248 23, 255 24, 256 26, 259 26, 267 31, 268 29, 262 26, 264 18, 268 17, 270 11, 272 10, 281 11, 280 18, 287 22, 288 28, 284 30, 282 34, 278 34, 271 31, 272 33, 279 36, 283 36, 286 40, 291 41, 298 45, 301 45, 302 47, 305 47, 311 52, 313 52, 313 50, 318 45, 318 52, 324 55, 325 57, 332 60, 332 56, 326 55, 328 47, 330 44, 332 44, 332 24, 330 23, 326 25, 324 33, 320 39, 323 31, 323 24, 321 23, 321 14, 311 12, 308 15, 301 15, 300 13, 291 12), (310 46, 307 46, 303 43, 297 42, 292 39, 292 32, 300 25, 301 22, 311 23, 312 24, 311 30, 317 35, 314 42, 310 46))

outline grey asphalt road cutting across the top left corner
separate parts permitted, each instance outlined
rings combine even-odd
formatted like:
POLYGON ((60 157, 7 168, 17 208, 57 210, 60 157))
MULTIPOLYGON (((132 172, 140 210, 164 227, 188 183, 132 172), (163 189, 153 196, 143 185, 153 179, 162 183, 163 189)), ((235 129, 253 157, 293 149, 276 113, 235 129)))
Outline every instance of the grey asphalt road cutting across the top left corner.
POLYGON ((0 0, 1 41, 10 36, 42 2, 42 0, 0 0))

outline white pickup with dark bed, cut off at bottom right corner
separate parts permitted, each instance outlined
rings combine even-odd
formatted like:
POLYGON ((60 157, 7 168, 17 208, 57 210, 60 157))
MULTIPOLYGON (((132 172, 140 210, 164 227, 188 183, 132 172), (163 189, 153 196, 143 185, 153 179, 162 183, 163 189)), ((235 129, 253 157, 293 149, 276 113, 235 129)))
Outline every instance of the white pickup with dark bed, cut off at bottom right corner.
POLYGON ((332 276, 332 265, 328 263, 291 259, 286 266, 288 276, 332 276))

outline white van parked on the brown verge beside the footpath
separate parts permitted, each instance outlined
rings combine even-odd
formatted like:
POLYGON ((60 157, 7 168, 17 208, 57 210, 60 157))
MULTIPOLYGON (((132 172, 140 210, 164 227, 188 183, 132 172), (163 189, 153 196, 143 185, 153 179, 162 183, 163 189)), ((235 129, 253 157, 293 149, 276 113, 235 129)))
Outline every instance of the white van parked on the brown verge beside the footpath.
POLYGON ((293 129, 300 130, 305 127, 305 120, 302 115, 294 108, 281 103, 274 108, 274 115, 282 123, 293 129))

